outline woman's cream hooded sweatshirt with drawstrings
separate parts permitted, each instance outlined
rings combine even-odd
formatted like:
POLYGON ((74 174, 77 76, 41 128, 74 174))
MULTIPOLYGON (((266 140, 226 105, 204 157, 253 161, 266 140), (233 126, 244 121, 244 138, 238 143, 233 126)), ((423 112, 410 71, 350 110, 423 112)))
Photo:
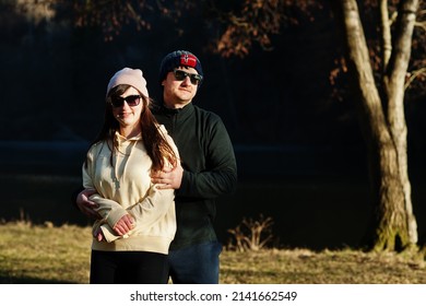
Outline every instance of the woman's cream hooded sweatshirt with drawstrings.
MULTIPOLYGON (((161 131, 178 154, 175 143, 163 126, 161 131)), ((83 186, 94 188, 97 193, 91 200, 99 204, 103 217, 93 226, 99 226, 106 242, 93 239, 95 250, 138 250, 168 254, 176 233, 175 192, 159 190, 151 183, 151 158, 146 154, 141 137, 126 139, 116 133, 119 152, 113 155, 105 141, 91 146, 87 165, 83 165, 83 186), (135 226, 125 236, 117 236, 114 225, 125 214, 131 214, 135 226)))

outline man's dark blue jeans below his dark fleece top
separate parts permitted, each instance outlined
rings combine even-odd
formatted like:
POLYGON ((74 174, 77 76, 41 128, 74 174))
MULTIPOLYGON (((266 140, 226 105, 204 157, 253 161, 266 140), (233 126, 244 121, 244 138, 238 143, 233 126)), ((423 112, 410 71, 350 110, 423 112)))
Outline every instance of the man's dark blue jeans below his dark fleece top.
POLYGON ((169 274, 174 284, 217 284, 218 242, 189 246, 168 254, 169 274))

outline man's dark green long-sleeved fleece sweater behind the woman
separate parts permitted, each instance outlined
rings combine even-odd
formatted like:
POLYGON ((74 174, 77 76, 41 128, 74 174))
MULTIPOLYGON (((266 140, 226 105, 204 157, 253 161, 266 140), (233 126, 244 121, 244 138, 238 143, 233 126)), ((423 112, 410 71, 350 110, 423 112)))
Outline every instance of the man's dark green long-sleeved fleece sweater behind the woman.
POLYGON ((153 113, 174 139, 184 167, 170 250, 214 242, 215 199, 234 192, 237 185, 237 163, 226 128, 217 115, 192 103, 181 109, 155 106, 153 113))

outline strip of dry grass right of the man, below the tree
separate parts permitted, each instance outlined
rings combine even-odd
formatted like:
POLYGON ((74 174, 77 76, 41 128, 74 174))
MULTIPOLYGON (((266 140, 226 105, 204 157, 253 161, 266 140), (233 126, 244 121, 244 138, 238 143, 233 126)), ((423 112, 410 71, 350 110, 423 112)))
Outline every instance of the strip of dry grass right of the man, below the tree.
POLYGON ((358 250, 224 251, 222 283, 415 284, 426 283, 423 259, 358 250))

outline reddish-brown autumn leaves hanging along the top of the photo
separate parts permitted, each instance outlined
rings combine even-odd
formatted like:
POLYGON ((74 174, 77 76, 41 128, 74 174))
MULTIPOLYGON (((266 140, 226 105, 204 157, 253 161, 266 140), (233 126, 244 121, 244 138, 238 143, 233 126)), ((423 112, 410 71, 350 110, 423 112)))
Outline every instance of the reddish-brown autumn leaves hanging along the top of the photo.
MULTIPOLYGON (((16 8, 28 17, 39 22, 51 19, 55 11, 71 10, 73 24, 78 27, 100 26, 105 40, 118 37, 127 26, 138 31, 151 31, 154 27, 173 26, 178 35, 185 35, 188 28, 182 20, 204 21, 208 49, 222 57, 248 56, 257 46, 272 50, 280 35, 291 25, 316 25, 322 14, 332 19, 330 1, 313 0, 239 0, 233 1, 194 1, 190 0, 20 0, 16 8), (162 22, 158 22, 158 16, 162 22), (165 24, 164 21, 170 23, 165 24)), ((371 66, 376 76, 380 76, 386 63, 382 62, 380 38, 379 1, 358 1, 366 24, 365 32, 369 45, 371 66)), ((398 5, 401 1, 389 0, 389 15, 394 30, 398 5)), ((410 101, 422 99, 426 92, 426 3, 421 1, 416 30, 413 35, 413 49, 405 86, 410 101)), ((338 27, 339 28, 339 27, 338 27)), ((338 30, 339 31, 339 30, 338 30)), ((332 97, 343 101, 351 96, 347 87, 347 63, 343 55, 334 60, 330 71, 333 85, 332 97)))

